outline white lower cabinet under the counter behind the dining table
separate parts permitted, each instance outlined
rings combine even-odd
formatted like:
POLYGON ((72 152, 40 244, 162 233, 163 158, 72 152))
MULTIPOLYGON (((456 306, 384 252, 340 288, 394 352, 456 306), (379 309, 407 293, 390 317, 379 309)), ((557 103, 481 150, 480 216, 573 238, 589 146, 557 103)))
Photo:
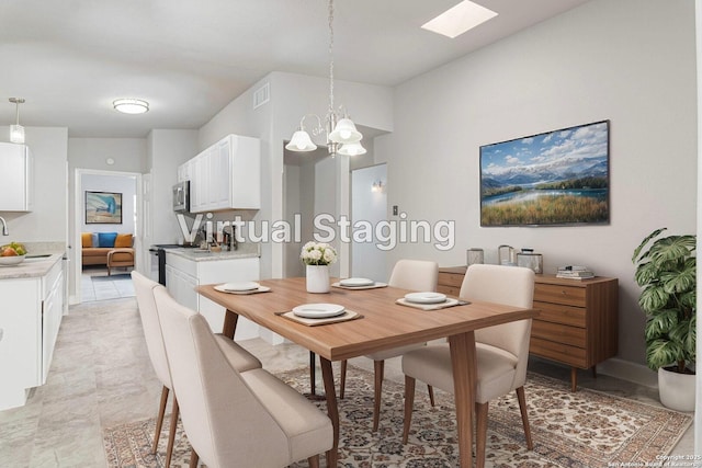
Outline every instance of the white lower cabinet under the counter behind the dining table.
MULTIPOLYGON (((166 288, 181 305, 202 313, 212 331, 224 327, 225 310, 202 297, 195 288, 204 284, 257 281, 260 276, 258 258, 194 261, 174 253, 166 253, 166 288)), ((259 327, 245 319, 237 321, 236 340, 259 336, 259 327)))

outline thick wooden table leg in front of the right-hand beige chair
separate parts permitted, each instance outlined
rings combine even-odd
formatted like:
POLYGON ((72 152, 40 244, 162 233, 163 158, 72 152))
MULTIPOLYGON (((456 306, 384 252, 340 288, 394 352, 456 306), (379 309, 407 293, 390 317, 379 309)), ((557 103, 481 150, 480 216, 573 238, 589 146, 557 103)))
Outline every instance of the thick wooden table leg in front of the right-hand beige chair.
POLYGON ((475 409, 477 359, 473 331, 449 336, 458 430, 460 466, 473 466, 473 412, 475 409))

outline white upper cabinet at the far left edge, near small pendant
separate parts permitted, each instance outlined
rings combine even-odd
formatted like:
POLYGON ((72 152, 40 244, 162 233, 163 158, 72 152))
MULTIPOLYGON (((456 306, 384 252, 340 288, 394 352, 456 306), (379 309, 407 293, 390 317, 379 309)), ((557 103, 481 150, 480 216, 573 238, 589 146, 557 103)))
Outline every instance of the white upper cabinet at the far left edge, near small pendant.
POLYGON ((0 142, 0 212, 34 207, 34 158, 26 145, 0 142))

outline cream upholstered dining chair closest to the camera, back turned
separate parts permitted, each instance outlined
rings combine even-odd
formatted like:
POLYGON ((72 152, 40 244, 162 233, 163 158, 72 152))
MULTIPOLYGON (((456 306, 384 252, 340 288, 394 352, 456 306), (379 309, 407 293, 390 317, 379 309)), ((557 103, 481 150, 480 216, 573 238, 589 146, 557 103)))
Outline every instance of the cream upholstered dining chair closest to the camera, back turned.
POLYGON ((154 297, 193 455, 211 468, 284 467, 304 458, 318 468, 319 454, 333 446, 329 418, 268 372, 236 370, 203 316, 165 289, 154 297))

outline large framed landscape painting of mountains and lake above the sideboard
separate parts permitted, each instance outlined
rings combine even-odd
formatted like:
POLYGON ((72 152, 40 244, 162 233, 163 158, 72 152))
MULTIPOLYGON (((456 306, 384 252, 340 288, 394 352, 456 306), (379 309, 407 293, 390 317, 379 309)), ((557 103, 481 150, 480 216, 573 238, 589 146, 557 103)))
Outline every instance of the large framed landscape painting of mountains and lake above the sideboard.
POLYGON ((610 220, 609 121, 480 147, 480 226, 610 220))

